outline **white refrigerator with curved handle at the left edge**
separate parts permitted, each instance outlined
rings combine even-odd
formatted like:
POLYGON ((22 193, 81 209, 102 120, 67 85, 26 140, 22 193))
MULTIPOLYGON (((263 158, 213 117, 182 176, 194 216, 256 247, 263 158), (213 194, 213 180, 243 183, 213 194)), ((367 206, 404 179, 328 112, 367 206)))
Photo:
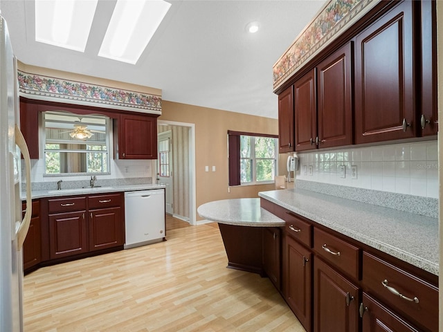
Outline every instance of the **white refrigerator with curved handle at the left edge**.
POLYGON ((17 60, 0 16, 0 331, 23 331, 23 252, 31 215, 30 160, 19 125, 17 60), (26 212, 21 219, 20 150, 26 166, 26 212))

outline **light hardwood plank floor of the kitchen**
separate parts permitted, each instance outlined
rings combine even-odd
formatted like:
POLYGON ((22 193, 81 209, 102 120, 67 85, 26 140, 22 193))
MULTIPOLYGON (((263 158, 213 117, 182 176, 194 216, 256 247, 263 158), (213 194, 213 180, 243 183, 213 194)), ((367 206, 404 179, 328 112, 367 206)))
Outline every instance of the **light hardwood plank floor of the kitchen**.
POLYGON ((217 228, 181 226, 26 275, 24 331, 305 331, 268 278, 226 268, 217 228))

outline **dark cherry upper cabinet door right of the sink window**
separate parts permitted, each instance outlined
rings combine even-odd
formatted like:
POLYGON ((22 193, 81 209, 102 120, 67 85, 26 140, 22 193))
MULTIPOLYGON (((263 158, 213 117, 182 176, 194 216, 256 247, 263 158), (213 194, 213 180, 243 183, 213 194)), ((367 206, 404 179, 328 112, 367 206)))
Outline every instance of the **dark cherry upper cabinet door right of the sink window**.
POLYGON ((152 116, 120 116, 119 159, 157 158, 157 119, 152 116))

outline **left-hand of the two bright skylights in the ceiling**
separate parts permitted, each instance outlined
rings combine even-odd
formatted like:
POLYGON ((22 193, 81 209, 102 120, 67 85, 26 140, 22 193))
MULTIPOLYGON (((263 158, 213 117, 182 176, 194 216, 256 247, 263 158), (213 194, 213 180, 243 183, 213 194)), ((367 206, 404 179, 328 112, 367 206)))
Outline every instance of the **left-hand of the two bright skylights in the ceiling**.
POLYGON ((98 0, 35 0, 35 40, 84 52, 98 0))

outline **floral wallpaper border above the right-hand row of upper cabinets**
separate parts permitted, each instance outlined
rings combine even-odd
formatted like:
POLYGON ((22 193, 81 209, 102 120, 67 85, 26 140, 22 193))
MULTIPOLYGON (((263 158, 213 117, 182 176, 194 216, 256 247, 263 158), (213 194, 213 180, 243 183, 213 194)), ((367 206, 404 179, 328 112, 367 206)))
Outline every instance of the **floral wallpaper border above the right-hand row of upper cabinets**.
POLYGON ((274 91, 380 0, 330 0, 273 66, 274 91), (353 23, 353 22, 352 22, 353 23))

